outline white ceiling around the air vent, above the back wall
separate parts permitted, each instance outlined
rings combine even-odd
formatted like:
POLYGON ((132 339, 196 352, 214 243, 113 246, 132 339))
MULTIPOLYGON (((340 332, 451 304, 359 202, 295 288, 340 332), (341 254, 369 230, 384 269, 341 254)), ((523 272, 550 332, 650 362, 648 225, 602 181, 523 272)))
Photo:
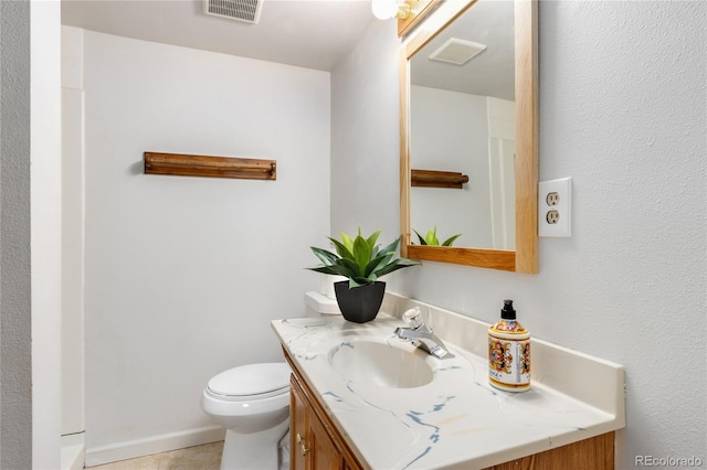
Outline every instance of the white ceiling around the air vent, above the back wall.
POLYGON ((264 0, 257 24, 201 0, 62 0, 62 24, 330 72, 376 20, 369 0, 264 0))

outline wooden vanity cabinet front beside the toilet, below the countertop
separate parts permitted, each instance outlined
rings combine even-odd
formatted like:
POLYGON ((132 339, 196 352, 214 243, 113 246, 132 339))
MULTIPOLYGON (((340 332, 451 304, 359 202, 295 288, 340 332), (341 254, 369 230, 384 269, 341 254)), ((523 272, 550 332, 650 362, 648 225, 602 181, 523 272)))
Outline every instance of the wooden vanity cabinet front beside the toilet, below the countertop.
MULTIPOLYGON (((293 371, 296 371, 294 366, 293 371)), ((361 469, 334 423, 296 372, 289 385, 291 469, 361 469)))

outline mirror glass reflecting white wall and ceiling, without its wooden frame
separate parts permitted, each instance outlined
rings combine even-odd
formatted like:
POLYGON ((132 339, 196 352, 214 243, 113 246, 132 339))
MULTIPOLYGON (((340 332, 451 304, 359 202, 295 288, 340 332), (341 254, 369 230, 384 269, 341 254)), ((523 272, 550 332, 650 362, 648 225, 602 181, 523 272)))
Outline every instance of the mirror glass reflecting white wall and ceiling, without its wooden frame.
POLYGON ((461 234, 454 246, 515 249, 513 7, 476 2, 410 58, 411 169, 468 177, 411 186, 411 228, 436 226, 440 243, 461 234))

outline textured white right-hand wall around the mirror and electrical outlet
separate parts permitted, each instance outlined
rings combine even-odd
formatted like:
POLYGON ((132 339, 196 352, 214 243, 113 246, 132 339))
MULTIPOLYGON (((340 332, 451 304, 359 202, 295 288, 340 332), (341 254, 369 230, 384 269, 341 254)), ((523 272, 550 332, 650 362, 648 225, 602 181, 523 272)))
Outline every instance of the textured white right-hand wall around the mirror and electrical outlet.
MULTIPOLYGON (((540 180, 573 178, 572 237, 540 241, 538 275, 424 263, 392 286, 489 322, 515 299, 538 338, 623 364, 619 469, 707 457, 706 9, 540 2, 540 180)), ((373 26, 333 73, 333 231, 397 229, 391 36, 373 26)))

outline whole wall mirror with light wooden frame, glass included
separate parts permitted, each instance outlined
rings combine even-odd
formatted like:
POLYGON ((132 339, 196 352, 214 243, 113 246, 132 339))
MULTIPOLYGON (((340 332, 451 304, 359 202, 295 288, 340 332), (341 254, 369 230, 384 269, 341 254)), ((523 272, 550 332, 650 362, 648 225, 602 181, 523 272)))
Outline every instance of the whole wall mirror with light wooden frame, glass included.
POLYGON ((536 3, 456 6, 401 55, 404 253, 537 273, 536 3))

